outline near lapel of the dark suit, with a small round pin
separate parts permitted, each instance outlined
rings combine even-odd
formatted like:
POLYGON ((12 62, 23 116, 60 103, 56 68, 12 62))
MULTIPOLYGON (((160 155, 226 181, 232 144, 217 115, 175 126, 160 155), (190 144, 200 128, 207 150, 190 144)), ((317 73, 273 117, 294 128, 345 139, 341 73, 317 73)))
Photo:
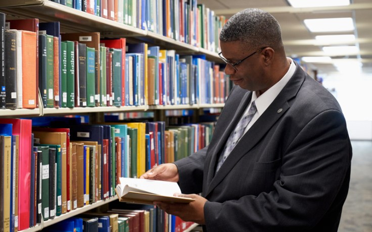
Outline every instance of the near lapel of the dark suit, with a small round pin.
MULTIPOLYGON (((230 155, 226 158, 214 178, 213 176, 210 177, 211 172, 214 175, 214 165, 210 165, 208 172, 208 180, 210 181, 207 182, 209 184, 209 186, 206 186, 207 190, 203 191, 204 197, 208 196, 208 194, 223 180, 223 178, 235 166, 235 164, 261 140, 261 138, 270 130, 275 122, 279 120, 290 108, 288 101, 296 96, 303 81, 305 80, 305 75, 306 74, 301 67, 296 64, 296 71, 293 77, 270 104, 270 106, 265 110, 265 112, 260 116, 260 118, 253 124, 249 131, 242 137, 236 147, 231 151, 230 155), (211 167, 213 170, 211 170, 211 167)), ((236 125, 236 123, 234 125, 236 125)), ((231 132, 231 130, 229 131, 231 132)), ((225 141, 226 140, 222 140, 219 141, 219 143, 224 145, 225 141)), ((215 154, 213 155, 214 162, 216 156, 217 155, 215 154)))

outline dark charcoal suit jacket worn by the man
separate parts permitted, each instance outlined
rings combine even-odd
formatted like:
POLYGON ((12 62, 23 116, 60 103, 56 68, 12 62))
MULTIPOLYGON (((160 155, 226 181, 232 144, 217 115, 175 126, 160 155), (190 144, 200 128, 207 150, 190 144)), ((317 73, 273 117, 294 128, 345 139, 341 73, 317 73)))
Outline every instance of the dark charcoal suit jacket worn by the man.
POLYGON ((336 99, 298 65, 293 77, 215 166, 252 97, 235 86, 208 147, 176 161, 183 193, 202 193, 204 231, 337 231, 351 144, 336 99))

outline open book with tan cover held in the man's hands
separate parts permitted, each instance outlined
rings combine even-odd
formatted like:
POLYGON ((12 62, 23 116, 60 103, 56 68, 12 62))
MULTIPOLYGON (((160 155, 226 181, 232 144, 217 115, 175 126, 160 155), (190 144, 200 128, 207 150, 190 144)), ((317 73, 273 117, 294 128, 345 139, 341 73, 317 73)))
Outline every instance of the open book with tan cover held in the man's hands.
POLYGON ((120 178, 115 188, 119 201, 152 205, 154 201, 190 203, 192 198, 174 197, 181 193, 177 183, 136 178, 120 178))

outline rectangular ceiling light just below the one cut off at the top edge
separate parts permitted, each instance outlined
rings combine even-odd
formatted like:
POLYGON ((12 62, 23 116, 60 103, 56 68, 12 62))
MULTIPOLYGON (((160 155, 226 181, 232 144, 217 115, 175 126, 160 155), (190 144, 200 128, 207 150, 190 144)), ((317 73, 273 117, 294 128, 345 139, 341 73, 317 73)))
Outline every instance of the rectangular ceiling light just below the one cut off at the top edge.
POLYGON ((352 18, 305 19, 304 23, 311 32, 353 31, 352 18))

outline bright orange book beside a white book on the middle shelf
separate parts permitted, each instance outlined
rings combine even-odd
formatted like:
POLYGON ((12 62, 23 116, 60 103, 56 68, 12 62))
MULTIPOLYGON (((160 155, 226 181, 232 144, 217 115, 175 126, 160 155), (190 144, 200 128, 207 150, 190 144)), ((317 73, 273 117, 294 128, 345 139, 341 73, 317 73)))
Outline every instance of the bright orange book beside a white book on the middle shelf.
POLYGON ((36 107, 36 32, 22 31, 22 107, 36 107))

